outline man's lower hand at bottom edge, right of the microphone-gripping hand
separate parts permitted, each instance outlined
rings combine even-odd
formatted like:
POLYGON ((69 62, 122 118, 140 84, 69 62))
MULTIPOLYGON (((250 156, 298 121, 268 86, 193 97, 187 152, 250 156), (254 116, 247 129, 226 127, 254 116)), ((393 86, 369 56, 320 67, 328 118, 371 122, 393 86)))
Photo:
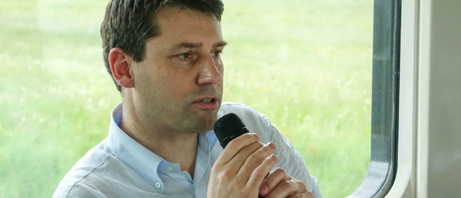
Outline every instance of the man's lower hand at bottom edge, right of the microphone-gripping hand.
POLYGON ((297 181, 281 168, 274 169, 267 175, 259 193, 266 198, 314 198, 312 192, 307 190, 306 184, 297 181))

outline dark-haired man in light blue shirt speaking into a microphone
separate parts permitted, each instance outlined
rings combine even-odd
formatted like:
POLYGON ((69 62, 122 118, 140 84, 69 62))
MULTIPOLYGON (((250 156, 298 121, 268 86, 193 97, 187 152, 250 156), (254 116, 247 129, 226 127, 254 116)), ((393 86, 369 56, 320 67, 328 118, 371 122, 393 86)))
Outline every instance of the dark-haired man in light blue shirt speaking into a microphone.
POLYGON ((122 103, 108 137, 53 197, 321 197, 300 154, 266 116, 221 104, 223 10, 221 0, 109 2, 104 60, 122 103), (223 149, 212 129, 230 112, 253 134, 223 149))

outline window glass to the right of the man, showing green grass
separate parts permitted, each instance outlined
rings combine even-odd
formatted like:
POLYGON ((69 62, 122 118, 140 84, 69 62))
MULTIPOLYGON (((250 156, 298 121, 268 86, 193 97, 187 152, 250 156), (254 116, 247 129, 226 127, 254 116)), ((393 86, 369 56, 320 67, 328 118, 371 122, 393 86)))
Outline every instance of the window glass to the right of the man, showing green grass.
POLYGON ((224 100, 267 115, 328 198, 370 163, 373 1, 226 0, 224 100))

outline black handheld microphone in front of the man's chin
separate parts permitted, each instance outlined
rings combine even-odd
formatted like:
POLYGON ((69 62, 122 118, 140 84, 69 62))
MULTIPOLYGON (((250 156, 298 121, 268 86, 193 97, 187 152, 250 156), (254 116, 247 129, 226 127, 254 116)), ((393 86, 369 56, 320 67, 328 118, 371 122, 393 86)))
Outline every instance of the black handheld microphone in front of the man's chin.
MULTIPOLYGON (((240 119, 240 117, 238 117, 235 113, 228 113, 219 118, 214 123, 213 130, 219 140, 219 144, 223 148, 225 148, 231 140, 236 139, 238 136, 250 133, 245 124, 243 124, 242 119, 240 119)), ((269 175, 269 173, 267 175, 269 175)), ((264 198, 264 196, 259 195, 258 198, 264 198)))

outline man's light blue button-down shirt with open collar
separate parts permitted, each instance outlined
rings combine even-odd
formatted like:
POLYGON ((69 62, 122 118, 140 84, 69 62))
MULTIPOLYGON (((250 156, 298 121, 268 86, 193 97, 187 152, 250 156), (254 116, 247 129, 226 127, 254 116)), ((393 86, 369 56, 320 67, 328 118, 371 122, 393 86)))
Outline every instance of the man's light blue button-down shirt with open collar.
MULTIPOLYGON (((82 157, 59 182, 53 198, 206 198, 210 170, 223 148, 213 131, 198 134, 194 178, 131 139, 118 125, 122 103, 111 114, 109 135, 82 157)), ((317 179, 301 155, 269 119, 248 105, 223 103, 218 118, 236 113, 261 143, 277 145, 275 168, 303 181, 315 198, 322 197, 317 179)), ((223 195, 225 197, 225 195, 223 195)))

